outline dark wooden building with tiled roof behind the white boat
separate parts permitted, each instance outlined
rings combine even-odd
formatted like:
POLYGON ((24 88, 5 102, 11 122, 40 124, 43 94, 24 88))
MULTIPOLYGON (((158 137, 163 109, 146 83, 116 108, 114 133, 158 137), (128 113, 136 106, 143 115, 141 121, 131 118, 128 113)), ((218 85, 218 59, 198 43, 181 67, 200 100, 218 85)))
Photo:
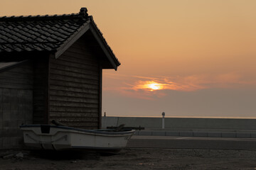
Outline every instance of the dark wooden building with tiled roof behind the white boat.
POLYGON ((21 146, 21 124, 100 128, 102 69, 119 64, 86 8, 1 17, 0 149, 21 146))

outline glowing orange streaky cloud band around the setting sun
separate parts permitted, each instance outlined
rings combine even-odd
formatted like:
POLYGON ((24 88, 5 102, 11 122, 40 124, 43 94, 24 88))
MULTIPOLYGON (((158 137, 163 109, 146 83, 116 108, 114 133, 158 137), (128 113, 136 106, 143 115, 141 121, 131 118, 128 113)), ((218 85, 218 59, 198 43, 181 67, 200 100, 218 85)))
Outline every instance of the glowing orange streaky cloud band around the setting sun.
POLYGON ((125 74, 105 74, 105 77, 112 84, 104 86, 104 90, 117 91, 124 96, 143 99, 161 98, 166 96, 166 90, 234 89, 255 86, 256 84, 256 81, 245 80, 241 74, 236 73, 198 74, 186 77, 142 77, 125 74))

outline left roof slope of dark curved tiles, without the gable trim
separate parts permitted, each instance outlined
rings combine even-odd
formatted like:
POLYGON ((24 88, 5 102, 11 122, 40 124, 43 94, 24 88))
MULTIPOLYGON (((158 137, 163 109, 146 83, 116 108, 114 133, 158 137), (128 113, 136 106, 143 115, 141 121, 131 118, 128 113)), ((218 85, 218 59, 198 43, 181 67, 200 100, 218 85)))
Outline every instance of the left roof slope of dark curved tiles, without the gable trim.
POLYGON ((55 51, 90 21, 87 9, 55 16, 0 18, 0 52, 55 51))

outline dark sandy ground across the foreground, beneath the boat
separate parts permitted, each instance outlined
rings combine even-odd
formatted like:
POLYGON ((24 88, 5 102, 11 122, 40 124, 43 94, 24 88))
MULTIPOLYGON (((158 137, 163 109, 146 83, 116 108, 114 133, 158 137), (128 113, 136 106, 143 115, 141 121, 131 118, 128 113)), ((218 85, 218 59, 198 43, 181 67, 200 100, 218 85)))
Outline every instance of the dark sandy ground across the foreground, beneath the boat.
POLYGON ((1 170, 256 169, 256 151, 239 150, 124 149, 119 154, 1 151, 0 156, 1 170), (15 156, 20 152, 23 158, 15 156), (8 154, 14 156, 6 158, 8 154))

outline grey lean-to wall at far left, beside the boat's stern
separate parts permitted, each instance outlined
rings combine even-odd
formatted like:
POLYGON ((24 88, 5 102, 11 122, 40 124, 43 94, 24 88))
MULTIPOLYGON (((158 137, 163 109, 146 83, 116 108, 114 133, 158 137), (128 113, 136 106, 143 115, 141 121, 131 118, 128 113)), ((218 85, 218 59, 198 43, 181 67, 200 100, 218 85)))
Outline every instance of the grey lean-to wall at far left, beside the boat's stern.
POLYGON ((21 147, 19 125, 31 124, 33 69, 31 62, 0 72, 0 149, 21 147))

